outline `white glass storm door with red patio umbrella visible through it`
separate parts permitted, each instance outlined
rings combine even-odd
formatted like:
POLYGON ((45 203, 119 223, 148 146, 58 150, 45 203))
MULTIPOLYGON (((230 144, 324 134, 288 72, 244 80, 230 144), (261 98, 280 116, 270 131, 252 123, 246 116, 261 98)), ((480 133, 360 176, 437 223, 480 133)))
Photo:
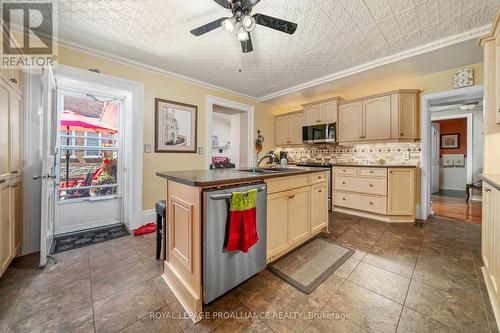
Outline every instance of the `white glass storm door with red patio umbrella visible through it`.
POLYGON ((58 90, 54 235, 123 223, 124 100, 58 90))

